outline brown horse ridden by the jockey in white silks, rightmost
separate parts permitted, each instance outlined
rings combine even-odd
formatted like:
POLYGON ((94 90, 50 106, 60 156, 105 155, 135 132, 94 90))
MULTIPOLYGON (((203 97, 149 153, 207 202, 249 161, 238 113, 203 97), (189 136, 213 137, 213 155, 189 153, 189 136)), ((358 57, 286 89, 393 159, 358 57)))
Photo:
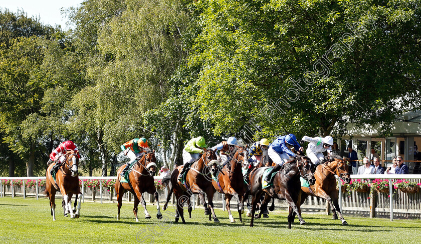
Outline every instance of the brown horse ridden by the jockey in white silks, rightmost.
MULTIPOLYGON (((318 196, 324 198, 329 202, 332 207, 332 219, 338 219, 339 214, 342 224, 348 224, 343 218, 342 212, 338 204, 339 190, 336 188, 335 175, 339 176, 346 183, 351 182, 351 177, 348 172, 348 164, 345 163, 342 158, 336 154, 331 155, 331 159, 323 164, 319 164, 314 172, 316 183, 308 187, 302 186, 301 201, 297 202, 298 205, 302 205, 308 195, 318 196)), ((290 210, 291 211, 291 210, 290 210)), ((295 214, 293 214, 295 216, 295 214)))

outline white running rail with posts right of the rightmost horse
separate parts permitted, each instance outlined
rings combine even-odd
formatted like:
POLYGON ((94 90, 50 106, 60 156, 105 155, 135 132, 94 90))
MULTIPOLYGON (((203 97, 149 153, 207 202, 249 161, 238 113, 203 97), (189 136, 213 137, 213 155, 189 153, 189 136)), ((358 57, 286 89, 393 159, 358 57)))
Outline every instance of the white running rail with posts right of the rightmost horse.
MULTIPOLYGON (((339 207, 342 212, 342 184, 340 178, 338 180, 339 188, 339 207)), ((351 179, 388 179, 389 180, 389 204, 390 204, 390 221, 393 221, 393 182, 392 179, 421 179, 421 174, 351 174, 351 179)))

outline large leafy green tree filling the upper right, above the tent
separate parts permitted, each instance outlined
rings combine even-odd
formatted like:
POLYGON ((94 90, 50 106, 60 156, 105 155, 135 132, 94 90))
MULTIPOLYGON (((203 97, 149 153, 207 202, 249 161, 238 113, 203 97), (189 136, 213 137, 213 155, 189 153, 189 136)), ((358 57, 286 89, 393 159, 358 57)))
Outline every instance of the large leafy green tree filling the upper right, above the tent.
POLYGON ((419 1, 200 1, 197 103, 216 133, 343 134, 419 108, 419 1), (390 88, 392 87, 392 88, 390 88), (395 99, 400 97, 400 99, 395 99), (209 111, 208 107, 215 109, 209 111))

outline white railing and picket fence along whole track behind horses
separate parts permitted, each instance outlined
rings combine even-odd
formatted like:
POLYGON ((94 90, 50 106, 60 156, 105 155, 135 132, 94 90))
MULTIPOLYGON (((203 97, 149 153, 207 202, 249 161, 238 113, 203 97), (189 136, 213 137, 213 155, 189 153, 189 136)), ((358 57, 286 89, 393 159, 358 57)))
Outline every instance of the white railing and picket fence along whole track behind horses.
MULTIPOLYGON (((115 179, 115 176, 110 177, 88 177, 88 176, 81 176, 79 179, 82 181, 82 194, 83 198, 82 201, 85 201, 85 198, 97 200, 99 196, 99 200, 103 203, 104 200, 115 200, 116 193, 114 192, 113 188, 106 188, 102 186, 102 181, 115 179), (84 180, 92 180, 96 179, 99 180, 99 187, 87 187, 85 185, 84 180)), ((155 179, 161 179, 159 176, 155 176, 155 179)), ((389 185, 392 186, 392 179, 414 179, 417 182, 421 182, 421 175, 420 174, 365 174, 365 175, 351 175, 352 179, 388 179, 389 185)), ((40 192, 44 191, 44 187, 38 185, 38 179, 45 180, 45 177, 0 177, 0 196, 4 197, 6 194, 15 197, 16 195, 22 195, 24 198, 28 196, 35 196, 36 199, 39 199, 40 192), (16 187, 13 184, 13 180, 22 180, 23 185, 16 187), (5 185, 3 183, 4 180, 10 180, 10 184, 5 185), (34 184, 35 187, 27 187, 25 185, 26 180, 35 180, 36 183, 34 184)), ((338 179, 339 180, 339 179, 338 179)), ((28 182, 28 181, 27 181, 28 182)), ((350 193, 342 193, 341 191, 341 184, 338 184, 339 187, 339 205, 342 212, 348 213, 370 213, 374 211, 377 214, 388 214, 390 215, 390 220, 393 220, 394 214, 403 214, 405 216, 421 216, 421 193, 415 194, 406 194, 400 191, 392 192, 392 187, 389 187, 389 193, 378 193, 375 196, 376 202, 373 204, 372 200, 373 195, 370 192, 355 192, 352 191, 350 193), (374 205, 374 206, 372 206, 374 205), (375 209, 373 209, 375 207, 375 209)), ((60 194, 59 192, 57 192, 60 194)), ((164 190, 158 190, 159 193, 159 201, 165 201, 167 196, 166 188, 164 190)), ((41 193, 43 196, 43 194, 41 193)), ((144 195, 145 196, 145 195, 144 195)), ((123 200, 131 201, 132 194, 127 192, 125 193, 123 200)), ((198 204, 196 202, 197 197, 195 195, 192 196, 192 206, 198 204)), ((147 202, 153 202, 154 199, 151 197, 145 197, 147 202)), ((173 201, 172 201, 173 202, 173 201)), ((234 200, 231 201, 232 208, 237 208, 237 202, 234 200)), ((221 193, 215 193, 214 195, 214 205, 217 208, 222 208, 225 210, 225 196, 221 193)), ((287 209, 288 204, 285 200, 275 199, 275 206, 277 209, 287 209)), ((327 211, 326 210, 326 202, 324 199, 319 197, 309 196, 307 197, 306 201, 302 205, 303 211, 327 211)))

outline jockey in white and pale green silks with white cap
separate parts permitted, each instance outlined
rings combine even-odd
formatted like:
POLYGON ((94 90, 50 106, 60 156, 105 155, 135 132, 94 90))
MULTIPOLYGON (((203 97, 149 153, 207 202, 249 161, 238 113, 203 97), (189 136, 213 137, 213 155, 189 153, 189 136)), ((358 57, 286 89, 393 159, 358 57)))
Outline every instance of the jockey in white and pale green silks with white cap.
POLYGON ((311 162, 314 165, 319 164, 322 162, 325 157, 323 155, 324 151, 327 151, 327 154, 330 154, 333 145, 333 138, 332 136, 328 135, 323 137, 316 136, 316 137, 309 137, 304 135, 301 141, 308 141, 308 148, 306 150, 307 156, 310 157, 311 162))

